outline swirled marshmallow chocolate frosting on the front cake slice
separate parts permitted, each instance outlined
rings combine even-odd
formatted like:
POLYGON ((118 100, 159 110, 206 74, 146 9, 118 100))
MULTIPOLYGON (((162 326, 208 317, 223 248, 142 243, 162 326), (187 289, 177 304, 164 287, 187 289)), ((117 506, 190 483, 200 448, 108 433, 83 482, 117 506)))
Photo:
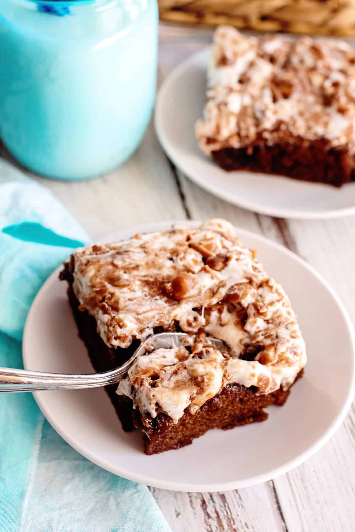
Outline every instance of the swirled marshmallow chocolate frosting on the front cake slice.
POLYGON ((128 370, 118 394, 132 398, 143 416, 163 411, 177 422, 228 384, 268 394, 294 382, 307 361, 304 341, 290 301, 255 255, 219 219, 73 254, 80 309, 95 317, 109 347, 128 347, 158 327, 200 338, 189 349, 142 355, 128 370), (223 340, 226 352, 209 335, 223 340), (250 349, 254 360, 245 360, 250 349))

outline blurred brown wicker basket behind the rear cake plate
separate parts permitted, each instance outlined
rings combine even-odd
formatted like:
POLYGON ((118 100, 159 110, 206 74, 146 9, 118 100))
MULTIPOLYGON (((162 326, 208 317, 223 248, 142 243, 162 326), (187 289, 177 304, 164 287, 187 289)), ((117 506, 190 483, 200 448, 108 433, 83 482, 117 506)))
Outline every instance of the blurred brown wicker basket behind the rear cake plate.
POLYGON ((168 22, 260 31, 355 35, 355 0, 159 0, 168 22))

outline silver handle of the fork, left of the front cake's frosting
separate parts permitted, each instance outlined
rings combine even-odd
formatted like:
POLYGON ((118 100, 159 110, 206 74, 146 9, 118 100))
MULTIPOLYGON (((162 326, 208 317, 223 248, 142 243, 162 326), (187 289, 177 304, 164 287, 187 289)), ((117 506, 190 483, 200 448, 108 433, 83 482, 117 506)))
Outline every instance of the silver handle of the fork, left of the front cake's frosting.
POLYGON ((118 383, 125 375, 129 364, 104 373, 45 373, 24 369, 0 368, 0 393, 34 392, 35 390, 69 390, 96 388, 118 383))

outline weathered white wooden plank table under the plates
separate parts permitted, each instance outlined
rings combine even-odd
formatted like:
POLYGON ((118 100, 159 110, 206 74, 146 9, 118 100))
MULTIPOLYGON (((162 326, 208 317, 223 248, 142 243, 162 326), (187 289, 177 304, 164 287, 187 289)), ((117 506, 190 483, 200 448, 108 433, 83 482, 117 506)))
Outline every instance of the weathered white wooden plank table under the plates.
MULTIPOLYGON (((159 83, 210 39, 207 31, 161 28, 159 83)), ((4 148, 2 155, 13 161, 4 148)), ((151 221, 227 218, 301 255, 329 281, 355 318, 355 217, 292 221, 218 200, 170 163, 152 124, 134 156, 99 179, 70 183, 34 177, 52 190, 92 238, 151 221)), ((282 477, 226 493, 151 491, 174 532, 351 532, 355 530, 354 404, 332 440, 282 477)))

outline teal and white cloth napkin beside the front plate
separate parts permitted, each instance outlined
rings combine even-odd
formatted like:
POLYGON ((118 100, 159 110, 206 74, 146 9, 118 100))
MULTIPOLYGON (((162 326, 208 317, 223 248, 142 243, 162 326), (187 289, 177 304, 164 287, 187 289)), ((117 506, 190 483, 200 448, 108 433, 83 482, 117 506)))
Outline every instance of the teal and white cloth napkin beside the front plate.
MULTIPOLYGON (((0 159, 0 366, 22 368, 24 322, 70 249, 3 232, 22 222, 89 242, 43 186, 0 159)), ((11 232, 11 231, 10 231, 11 232)), ((92 464, 52 429, 30 393, 0 394, 1 532, 168 532, 146 486, 92 464)))

